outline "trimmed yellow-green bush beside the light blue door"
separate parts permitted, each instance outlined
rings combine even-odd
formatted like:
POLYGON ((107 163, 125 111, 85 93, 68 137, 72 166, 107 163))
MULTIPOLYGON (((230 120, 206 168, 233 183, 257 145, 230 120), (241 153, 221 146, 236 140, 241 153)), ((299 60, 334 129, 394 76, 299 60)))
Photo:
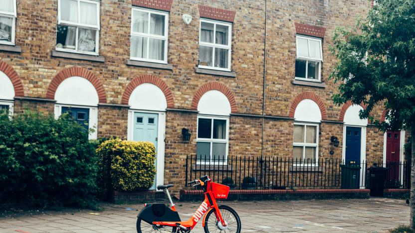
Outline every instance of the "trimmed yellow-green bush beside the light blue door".
POLYGON ((139 191, 153 185, 156 175, 156 148, 153 143, 110 139, 101 143, 96 152, 103 179, 111 180, 111 184, 106 185, 111 187, 102 188, 139 191))

